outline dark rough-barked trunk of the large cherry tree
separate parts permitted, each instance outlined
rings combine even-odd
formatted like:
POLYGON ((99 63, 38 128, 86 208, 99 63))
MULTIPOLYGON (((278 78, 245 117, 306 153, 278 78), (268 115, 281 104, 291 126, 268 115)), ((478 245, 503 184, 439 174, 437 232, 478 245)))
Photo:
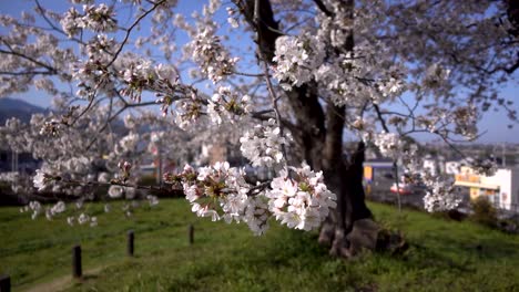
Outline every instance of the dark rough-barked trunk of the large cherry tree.
MULTIPOLYGON (((275 42, 282 34, 269 0, 244 0, 235 3, 256 31, 255 41, 261 50, 260 55, 266 56, 266 61, 275 65, 272 61, 275 42), (260 6, 257 10, 256 6, 260 6), (260 22, 255 21, 255 13, 260 22)), ((344 4, 353 7, 353 0, 347 0, 344 4)), ((346 43, 346 50, 353 51, 352 33, 346 43)), ((352 252, 347 234, 353 230, 355 221, 372 218, 362 184, 365 145, 359 142, 357 149, 344 155, 346 107, 328 104, 325 112, 318 100, 316 83, 311 82, 286 91, 285 95, 294 111, 298 129, 294 136, 301 144, 304 159, 313 169, 323 170, 325 182, 337 195, 337 208, 323 225, 319 242, 329 244, 332 254, 349 257, 352 252)))

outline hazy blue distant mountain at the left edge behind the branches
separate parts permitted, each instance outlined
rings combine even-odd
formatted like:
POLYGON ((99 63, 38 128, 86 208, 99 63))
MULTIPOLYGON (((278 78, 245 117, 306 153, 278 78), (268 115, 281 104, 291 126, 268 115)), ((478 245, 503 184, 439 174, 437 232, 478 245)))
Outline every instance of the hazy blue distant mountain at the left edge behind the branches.
POLYGON ((24 123, 31 121, 32 114, 45 113, 47 109, 28 102, 10 97, 0 97, 0 125, 4 125, 10 117, 18 117, 24 123))

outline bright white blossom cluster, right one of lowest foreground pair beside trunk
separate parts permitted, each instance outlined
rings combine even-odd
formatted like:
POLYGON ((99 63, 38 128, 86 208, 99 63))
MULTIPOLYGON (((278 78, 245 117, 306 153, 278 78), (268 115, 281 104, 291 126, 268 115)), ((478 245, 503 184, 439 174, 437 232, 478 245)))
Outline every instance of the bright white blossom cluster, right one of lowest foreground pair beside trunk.
POLYGON ((324 184, 322 171, 314 173, 307 165, 291 170, 292 176, 282 170, 272 180, 272 189, 265 194, 268 210, 288 228, 316 229, 336 207, 336 196, 324 184))

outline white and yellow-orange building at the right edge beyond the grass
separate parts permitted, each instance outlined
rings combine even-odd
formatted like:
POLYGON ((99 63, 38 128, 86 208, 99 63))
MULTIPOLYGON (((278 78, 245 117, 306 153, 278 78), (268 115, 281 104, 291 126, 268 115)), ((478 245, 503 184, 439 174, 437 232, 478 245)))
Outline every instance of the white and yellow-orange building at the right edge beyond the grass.
POLYGON ((493 176, 482 176, 461 166, 455 178, 456 186, 470 189, 470 199, 485 196, 496 208, 519 212, 519 168, 500 168, 493 176))

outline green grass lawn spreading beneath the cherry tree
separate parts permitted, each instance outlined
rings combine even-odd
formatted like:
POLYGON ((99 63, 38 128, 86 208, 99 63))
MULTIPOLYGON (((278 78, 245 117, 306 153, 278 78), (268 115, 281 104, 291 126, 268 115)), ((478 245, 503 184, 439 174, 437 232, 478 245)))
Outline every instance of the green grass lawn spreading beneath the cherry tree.
MULTIPOLYGON (((99 217, 96 228, 32 221, 2 208, 0 272, 11 275, 14 291, 63 279, 71 273, 71 249, 81 242, 86 273, 63 285, 68 291, 519 291, 519 237, 369 207, 379 222, 403 230, 410 243, 403 255, 334 259, 317 244, 316 232, 273 222, 266 236, 254 237, 244 225, 196 218, 180 199, 139 209, 131 219, 112 211, 99 217), (125 257, 129 229, 135 230, 133 259, 125 257)), ((90 208, 101 212, 102 206, 90 208)))

